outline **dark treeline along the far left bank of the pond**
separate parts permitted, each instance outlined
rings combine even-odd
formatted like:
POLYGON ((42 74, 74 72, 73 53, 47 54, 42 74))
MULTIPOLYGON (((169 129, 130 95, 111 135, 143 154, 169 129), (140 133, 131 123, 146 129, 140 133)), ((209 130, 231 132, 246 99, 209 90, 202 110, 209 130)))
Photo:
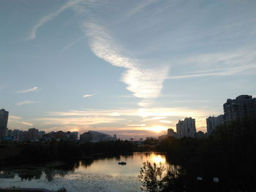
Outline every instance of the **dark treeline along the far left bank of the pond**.
POLYGON ((91 155, 115 155, 130 153, 135 145, 129 141, 86 142, 79 144, 72 141, 31 142, 1 150, 14 150, 15 153, 2 158, 0 164, 39 164, 49 161, 74 161, 91 155))

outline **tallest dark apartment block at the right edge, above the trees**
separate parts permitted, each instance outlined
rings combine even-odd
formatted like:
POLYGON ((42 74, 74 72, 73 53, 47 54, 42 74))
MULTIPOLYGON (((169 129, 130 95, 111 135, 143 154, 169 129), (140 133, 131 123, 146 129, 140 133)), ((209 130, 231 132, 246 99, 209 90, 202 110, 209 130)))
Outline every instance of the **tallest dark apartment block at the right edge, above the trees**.
POLYGON ((236 99, 227 99, 223 104, 225 121, 244 120, 256 117, 256 98, 241 95, 236 99))

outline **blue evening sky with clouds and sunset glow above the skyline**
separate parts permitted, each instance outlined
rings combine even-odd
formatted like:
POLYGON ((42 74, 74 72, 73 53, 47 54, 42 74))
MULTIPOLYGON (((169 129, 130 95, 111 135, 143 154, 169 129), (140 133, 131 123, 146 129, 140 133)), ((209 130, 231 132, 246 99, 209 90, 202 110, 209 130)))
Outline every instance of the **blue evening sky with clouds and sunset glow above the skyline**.
POLYGON ((140 138, 256 96, 256 1, 0 0, 8 128, 140 138))

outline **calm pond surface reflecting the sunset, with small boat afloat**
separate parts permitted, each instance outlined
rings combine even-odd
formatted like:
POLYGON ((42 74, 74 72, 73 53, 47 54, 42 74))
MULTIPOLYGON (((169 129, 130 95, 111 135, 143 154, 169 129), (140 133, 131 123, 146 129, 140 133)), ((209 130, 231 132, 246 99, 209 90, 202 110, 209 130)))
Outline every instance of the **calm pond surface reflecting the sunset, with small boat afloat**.
POLYGON ((1 169, 1 187, 47 188, 67 191, 140 191, 138 175, 143 162, 162 163, 165 155, 158 153, 133 153, 111 158, 78 161, 65 166, 23 167, 1 169), (125 161, 127 165, 118 165, 125 161))

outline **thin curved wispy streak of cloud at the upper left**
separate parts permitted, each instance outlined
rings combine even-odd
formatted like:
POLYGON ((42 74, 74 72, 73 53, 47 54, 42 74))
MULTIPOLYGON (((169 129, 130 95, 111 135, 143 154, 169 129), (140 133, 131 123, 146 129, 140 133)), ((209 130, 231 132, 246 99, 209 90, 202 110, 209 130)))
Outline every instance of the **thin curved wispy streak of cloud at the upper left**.
POLYGON ((62 7, 60 7, 56 12, 51 12, 50 14, 42 17, 38 21, 38 23, 31 28, 31 31, 29 32, 29 37, 27 37, 27 40, 35 39, 37 30, 39 27, 43 26, 45 23, 48 23, 48 21, 52 20, 53 18, 56 18, 56 16, 59 15, 61 12, 63 12, 65 9, 67 9, 75 4, 78 4, 78 2, 80 2, 80 1, 82 1, 82 0, 67 1, 67 3, 64 4, 62 7))

